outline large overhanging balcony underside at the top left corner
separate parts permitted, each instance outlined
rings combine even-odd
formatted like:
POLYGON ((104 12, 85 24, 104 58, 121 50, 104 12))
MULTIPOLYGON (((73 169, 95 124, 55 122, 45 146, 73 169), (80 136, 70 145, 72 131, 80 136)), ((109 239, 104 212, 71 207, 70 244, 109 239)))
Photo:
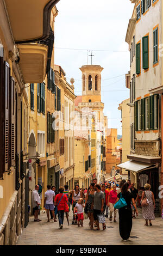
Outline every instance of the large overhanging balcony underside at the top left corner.
POLYGON ((48 38, 51 10, 59 0, 4 0, 17 44, 48 38))

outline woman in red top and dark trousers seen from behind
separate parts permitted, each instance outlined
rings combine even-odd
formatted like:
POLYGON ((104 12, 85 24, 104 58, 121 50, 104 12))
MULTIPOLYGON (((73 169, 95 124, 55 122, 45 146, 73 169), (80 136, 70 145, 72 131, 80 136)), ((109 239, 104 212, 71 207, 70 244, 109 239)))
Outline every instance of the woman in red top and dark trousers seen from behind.
POLYGON ((59 220, 59 227, 62 228, 64 224, 64 214, 65 214, 65 204, 68 202, 68 198, 64 192, 64 187, 59 188, 59 194, 55 196, 54 204, 57 206, 58 209, 58 220, 59 220))

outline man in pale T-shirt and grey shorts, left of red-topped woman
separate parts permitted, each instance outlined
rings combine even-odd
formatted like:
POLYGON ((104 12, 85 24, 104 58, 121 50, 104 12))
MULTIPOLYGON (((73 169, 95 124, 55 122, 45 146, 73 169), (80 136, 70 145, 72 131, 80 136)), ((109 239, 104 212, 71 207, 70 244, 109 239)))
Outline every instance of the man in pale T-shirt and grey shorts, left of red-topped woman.
POLYGON ((57 222, 55 215, 54 215, 54 199, 55 199, 55 192, 51 190, 51 185, 47 185, 47 191, 45 192, 45 199, 44 199, 44 207, 46 209, 47 218, 49 221, 49 211, 52 212, 54 222, 57 222))

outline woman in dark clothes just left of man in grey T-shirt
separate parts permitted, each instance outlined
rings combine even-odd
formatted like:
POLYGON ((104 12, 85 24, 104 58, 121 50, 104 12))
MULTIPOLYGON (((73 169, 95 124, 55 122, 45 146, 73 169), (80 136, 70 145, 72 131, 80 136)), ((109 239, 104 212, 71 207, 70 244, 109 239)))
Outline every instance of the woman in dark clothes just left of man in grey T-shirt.
POLYGON ((94 194, 95 194, 95 184, 92 182, 90 184, 90 190, 86 194, 85 210, 84 210, 85 213, 89 217, 91 229, 93 229, 93 222, 94 222, 94 218, 93 218, 93 205, 92 205, 93 199, 94 199, 94 194))

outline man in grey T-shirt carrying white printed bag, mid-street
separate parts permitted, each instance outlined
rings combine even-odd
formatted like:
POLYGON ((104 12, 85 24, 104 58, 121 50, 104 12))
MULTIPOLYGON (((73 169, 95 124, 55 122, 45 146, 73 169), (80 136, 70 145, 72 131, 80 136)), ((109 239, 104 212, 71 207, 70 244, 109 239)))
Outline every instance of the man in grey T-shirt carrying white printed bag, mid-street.
MULTIPOLYGON (((93 230, 100 230, 99 229, 99 222, 98 222, 98 215, 101 215, 101 212, 104 211, 104 193, 101 191, 101 187, 99 184, 95 185, 95 194, 93 199, 93 217, 96 222, 97 228, 93 230)), ((106 228, 105 223, 103 223, 103 229, 106 228)))

